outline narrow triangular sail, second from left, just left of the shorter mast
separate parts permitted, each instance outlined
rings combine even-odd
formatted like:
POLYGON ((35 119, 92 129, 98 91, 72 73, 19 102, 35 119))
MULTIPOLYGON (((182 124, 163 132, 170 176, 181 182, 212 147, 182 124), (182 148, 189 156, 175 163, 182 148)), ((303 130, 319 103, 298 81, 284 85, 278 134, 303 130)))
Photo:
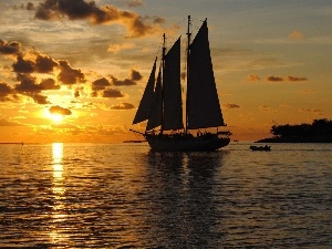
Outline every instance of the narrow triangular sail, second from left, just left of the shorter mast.
POLYGON ((146 131, 153 129, 162 125, 162 113, 163 113, 162 91, 163 91, 162 72, 159 70, 157 82, 156 82, 156 89, 152 101, 152 106, 149 108, 146 131))

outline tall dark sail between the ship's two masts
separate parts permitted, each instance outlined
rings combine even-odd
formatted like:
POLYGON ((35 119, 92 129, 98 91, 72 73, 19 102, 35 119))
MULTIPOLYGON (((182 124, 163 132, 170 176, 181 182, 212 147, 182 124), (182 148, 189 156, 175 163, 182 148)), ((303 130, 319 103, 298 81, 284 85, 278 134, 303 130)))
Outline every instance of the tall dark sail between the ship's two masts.
POLYGON ((180 38, 165 56, 163 129, 184 128, 180 86, 180 38))

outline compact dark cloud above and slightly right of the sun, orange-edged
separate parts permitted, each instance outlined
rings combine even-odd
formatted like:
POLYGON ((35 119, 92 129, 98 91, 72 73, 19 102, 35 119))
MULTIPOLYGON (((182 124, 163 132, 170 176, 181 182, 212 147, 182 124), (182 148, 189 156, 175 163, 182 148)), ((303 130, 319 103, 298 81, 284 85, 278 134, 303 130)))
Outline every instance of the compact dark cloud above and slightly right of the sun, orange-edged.
POLYGON ((85 76, 81 72, 81 70, 72 69, 68 61, 59 61, 60 74, 58 75, 58 80, 63 84, 75 84, 75 83, 84 83, 85 76))

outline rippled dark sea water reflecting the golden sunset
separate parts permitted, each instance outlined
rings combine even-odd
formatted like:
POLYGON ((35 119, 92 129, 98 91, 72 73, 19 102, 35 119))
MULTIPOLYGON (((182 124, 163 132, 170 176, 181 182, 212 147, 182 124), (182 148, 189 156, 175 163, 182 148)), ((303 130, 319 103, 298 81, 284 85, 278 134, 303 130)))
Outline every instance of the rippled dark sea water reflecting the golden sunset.
POLYGON ((332 248, 332 145, 0 145, 1 248, 332 248))

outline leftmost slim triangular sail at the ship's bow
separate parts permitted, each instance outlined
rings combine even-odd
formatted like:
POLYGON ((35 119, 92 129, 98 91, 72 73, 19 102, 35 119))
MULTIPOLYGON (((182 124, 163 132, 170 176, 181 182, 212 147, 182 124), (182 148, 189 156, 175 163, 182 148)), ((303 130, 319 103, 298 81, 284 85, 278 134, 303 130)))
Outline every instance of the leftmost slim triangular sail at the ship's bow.
POLYGON ((147 84, 145 86, 144 94, 141 100, 139 106, 137 108, 136 115, 134 117, 133 124, 141 123, 148 118, 148 114, 151 111, 153 96, 154 96, 156 62, 157 62, 157 59, 155 60, 154 66, 149 74, 149 77, 148 77, 147 84))

